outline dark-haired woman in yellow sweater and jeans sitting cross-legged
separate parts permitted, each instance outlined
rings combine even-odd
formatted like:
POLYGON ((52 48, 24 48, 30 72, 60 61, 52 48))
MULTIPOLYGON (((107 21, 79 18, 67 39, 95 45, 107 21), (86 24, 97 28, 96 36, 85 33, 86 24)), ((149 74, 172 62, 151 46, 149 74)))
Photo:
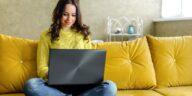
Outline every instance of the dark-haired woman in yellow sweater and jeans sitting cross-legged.
MULTIPOLYGON (((89 27, 82 24, 78 4, 74 0, 59 0, 53 11, 53 23, 41 34, 37 51, 37 73, 40 78, 28 80, 24 86, 27 96, 115 96, 116 85, 104 81, 90 89, 79 92, 68 87, 47 85, 49 49, 90 49, 89 27)), ((79 90, 79 89, 78 89, 79 90)))

